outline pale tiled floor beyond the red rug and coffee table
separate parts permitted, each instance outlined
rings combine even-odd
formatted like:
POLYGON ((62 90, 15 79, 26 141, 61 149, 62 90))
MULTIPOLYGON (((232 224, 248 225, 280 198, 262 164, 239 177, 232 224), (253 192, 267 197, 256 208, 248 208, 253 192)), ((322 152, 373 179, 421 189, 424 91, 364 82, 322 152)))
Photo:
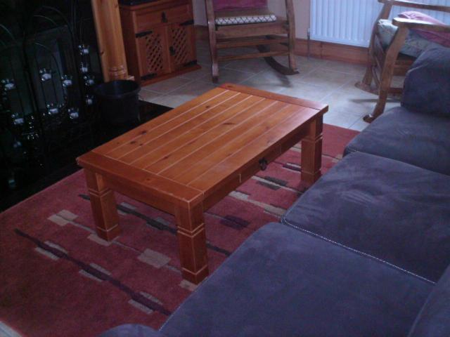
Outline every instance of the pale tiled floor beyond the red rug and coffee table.
MULTIPOLYGON (((226 51, 239 53, 240 51, 226 51)), ((149 102, 177 107, 214 88, 211 81, 210 51, 207 42, 198 41, 197 58, 202 69, 143 87, 141 98, 149 102)), ((280 58, 286 63, 287 58, 280 58)), ((365 67, 345 62, 319 60, 297 56, 300 74, 284 76, 274 71, 262 59, 238 60, 219 65, 219 84, 231 82, 274 93, 321 101, 330 106, 324 122, 361 131, 368 124, 362 117, 373 110, 376 95, 356 88, 365 67)), ((399 105, 390 100, 386 109, 399 105)))

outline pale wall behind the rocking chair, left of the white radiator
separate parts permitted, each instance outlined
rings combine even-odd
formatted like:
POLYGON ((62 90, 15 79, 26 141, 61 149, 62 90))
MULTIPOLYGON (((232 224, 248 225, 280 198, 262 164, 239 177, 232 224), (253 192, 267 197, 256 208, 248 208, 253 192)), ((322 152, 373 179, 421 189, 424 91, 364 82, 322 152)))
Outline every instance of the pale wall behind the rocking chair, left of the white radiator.
MULTIPOLYGON (((285 0, 268 0, 269 8, 276 15, 285 16, 285 0)), ((309 28, 310 0, 293 0, 295 11, 295 33, 297 38, 306 39, 309 28)), ((207 25, 205 0, 192 0, 195 25, 207 25)))

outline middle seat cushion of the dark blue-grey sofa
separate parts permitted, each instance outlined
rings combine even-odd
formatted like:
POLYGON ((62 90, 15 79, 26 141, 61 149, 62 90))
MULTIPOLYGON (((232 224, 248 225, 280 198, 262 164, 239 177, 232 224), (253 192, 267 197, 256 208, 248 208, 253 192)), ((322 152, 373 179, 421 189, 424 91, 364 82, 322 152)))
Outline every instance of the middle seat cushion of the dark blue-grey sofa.
POLYGON ((450 264, 450 177, 356 152, 282 222, 436 282, 450 264))

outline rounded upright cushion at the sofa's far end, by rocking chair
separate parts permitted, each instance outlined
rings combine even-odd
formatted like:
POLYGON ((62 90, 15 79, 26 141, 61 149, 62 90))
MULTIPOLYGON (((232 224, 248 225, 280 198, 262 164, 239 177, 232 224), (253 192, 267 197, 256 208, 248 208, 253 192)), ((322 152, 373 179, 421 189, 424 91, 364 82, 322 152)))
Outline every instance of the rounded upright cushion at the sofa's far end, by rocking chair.
POLYGON ((424 51, 406 74, 401 106, 450 117, 450 48, 424 51))

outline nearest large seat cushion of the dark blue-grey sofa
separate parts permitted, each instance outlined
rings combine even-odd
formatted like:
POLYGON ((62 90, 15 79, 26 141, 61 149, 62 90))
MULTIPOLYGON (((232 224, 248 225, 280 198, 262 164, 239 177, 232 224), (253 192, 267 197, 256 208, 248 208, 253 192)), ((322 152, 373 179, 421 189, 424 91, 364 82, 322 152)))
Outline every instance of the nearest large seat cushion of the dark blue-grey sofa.
POLYGON ((167 336, 406 336, 432 286, 272 223, 252 234, 160 331, 167 336))

